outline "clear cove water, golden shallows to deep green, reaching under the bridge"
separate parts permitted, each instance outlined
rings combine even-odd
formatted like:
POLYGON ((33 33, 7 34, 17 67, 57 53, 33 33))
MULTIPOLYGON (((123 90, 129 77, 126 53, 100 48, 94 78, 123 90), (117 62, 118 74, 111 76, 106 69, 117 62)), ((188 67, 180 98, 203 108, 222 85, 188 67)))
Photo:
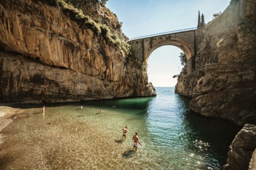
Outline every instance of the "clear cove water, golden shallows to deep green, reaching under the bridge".
POLYGON ((17 106, 35 114, 2 131, 2 168, 221 169, 241 128, 190 111, 190 99, 174 88, 156 90, 156 97, 46 105, 44 116, 37 105, 17 106), (123 141, 125 125, 130 133, 123 141), (143 144, 137 153, 135 131, 143 144))

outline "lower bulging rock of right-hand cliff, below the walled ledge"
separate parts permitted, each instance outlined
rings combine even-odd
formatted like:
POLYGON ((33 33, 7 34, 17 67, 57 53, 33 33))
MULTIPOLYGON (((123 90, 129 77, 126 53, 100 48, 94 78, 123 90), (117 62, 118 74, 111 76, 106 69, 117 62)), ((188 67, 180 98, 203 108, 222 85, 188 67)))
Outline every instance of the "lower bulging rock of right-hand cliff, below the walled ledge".
POLYGON ((189 107, 204 116, 229 119, 238 125, 256 123, 255 65, 208 64, 198 80, 189 107))

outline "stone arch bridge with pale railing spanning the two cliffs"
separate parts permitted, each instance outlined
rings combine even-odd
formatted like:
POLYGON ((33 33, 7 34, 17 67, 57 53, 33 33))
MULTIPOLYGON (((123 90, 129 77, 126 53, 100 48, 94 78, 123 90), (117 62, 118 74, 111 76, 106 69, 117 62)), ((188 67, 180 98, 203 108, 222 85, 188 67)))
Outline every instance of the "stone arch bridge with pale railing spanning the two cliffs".
POLYGON ((135 37, 131 38, 128 43, 131 45, 132 54, 141 59, 144 65, 147 64, 150 54, 163 45, 174 45, 180 48, 189 60, 196 55, 196 30, 195 27, 135 37))

